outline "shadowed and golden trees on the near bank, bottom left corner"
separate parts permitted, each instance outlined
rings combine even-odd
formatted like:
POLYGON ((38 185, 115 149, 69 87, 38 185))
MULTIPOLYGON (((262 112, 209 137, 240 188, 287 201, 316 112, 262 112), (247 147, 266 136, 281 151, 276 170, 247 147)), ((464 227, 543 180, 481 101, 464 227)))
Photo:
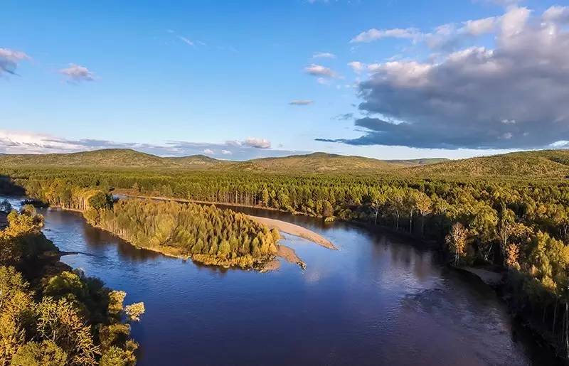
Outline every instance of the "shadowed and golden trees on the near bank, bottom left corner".
MULTIPOLYGON (((8 205, 2 203, 2 208, 8 205)), ((58 262, 31 205, 0 231, 0 365, 135 365, 130 338, 144 303, 58 262)))

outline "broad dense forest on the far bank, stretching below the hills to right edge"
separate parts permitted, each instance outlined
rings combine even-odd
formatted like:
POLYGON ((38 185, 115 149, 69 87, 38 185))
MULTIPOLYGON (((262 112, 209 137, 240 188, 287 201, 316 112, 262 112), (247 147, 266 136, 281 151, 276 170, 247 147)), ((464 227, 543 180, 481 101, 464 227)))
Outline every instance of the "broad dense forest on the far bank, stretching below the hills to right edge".
POLYGON ((408 232, 440 243, 453 265, 506 269, 516 311, 569 351, 569 185, 563 180, 90 168, 3 173, 31 195, 63 206, 77 204, 77 187, 250 205, 408 232))

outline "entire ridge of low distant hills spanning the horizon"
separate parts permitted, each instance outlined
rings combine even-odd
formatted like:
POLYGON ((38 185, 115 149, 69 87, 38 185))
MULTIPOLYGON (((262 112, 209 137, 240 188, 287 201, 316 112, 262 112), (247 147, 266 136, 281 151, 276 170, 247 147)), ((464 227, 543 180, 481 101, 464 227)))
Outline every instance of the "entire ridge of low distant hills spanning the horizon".
POLYGON ((132 149, 103 149, 72 154, 0 154, 0 166, 166 168, 267 173, 385 173, 422 178, 531 179, 568 177, 569 150, 523 151, 460 160, 379 160, 317 152, 279 158, 226 161, 204 155, 160 157, 132 149))

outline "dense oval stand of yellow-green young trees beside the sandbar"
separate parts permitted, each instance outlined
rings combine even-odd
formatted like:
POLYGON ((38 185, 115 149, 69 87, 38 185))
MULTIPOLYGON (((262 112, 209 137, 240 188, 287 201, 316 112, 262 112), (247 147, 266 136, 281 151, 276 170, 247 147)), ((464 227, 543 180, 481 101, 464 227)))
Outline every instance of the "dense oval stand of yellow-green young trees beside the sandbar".
POLYGON ((139 247, 243 268, 270 259, 278 240, 247 215, 193 203, 121 200, 100 211, 97 225, 139 247))

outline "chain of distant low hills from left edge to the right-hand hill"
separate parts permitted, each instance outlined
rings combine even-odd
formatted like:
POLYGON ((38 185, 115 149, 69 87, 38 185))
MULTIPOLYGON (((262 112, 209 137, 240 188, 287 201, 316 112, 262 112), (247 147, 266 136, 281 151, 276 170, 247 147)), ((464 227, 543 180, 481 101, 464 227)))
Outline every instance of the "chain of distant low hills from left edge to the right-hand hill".
POLYGON ((283 158, 257 158, 249 161, 225 161, 203 155, 160 157, 132 149, 104 149, 73 154, 0 155, 0 164, 4 166, 232 169, 277 173, 393 171, 404 166, 416 166, 431 162, 433 162, 432 159, 382 161, 362 156, 343 156, 325 153, 293 155, 283 158))

